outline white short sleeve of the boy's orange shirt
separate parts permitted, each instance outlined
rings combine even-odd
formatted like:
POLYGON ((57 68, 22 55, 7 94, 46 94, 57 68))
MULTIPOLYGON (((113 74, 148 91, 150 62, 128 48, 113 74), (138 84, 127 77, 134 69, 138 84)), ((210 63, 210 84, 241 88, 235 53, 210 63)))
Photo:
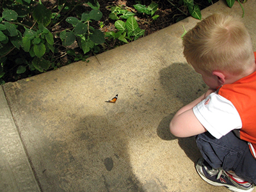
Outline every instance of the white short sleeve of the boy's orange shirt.
POLYGON ((233 129, 241 129, 242 121, 230 100, 217 93, 211 93, 198 103, 193 112, 199 122, 212 136, 220 139, 233 129))

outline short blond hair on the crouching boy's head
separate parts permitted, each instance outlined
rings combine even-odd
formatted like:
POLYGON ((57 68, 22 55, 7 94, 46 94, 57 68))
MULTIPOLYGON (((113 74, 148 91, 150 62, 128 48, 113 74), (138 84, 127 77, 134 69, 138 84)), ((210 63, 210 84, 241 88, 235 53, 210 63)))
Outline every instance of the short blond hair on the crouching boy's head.
POLYGON ((218 13, 198 22, 184 36, 183 45, 188 63, 208 74, 225 70, 238 75, 254 61, 250 35, 234 15, 218 13))

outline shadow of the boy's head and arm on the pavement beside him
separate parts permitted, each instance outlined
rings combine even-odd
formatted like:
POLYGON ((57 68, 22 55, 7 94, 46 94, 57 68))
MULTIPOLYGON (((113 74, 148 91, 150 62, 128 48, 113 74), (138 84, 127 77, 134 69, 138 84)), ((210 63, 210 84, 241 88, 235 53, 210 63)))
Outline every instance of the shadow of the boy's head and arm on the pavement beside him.
MULTIPOLYGON (((164 91, 167 95, 170 95, 169 99, 171 102, 173 99, 178 100, 182 103, 182 106, 195 100, 207 90, 207 86, 202 81, 200 75, 187 63, 173 63, 169 67, 161 70, 159 76, 164 91)), ((175 113, 182 106, 173 106, 175 113)), ((162 140, 177 139, 182 150, 195 163, 198 157, 200 157, 200 152, 195 143, 195 137, 177 138, 170 132, 170 122, 175 113, 171 113, 161 120, 157 127, 157 136, 162 140)))

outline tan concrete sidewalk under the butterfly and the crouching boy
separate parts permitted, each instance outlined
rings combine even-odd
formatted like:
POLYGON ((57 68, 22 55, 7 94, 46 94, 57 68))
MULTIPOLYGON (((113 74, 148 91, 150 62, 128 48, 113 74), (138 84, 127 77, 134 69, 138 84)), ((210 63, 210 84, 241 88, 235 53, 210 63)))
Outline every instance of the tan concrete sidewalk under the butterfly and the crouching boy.
MULTIPOLYGON (((244 23, 256 51, 256 1, 244 23)), ((202 11, 242 15, 220 1, 202 11)), ((193 138, 170 120, 207 90, 182 56, 182 25, 0 88, 0 191, 228 191, 206 184, 193 138), (118 94, 115 104, 105 102, 118 94)), ((256 191, 256 190, 255 190, 256 191)))

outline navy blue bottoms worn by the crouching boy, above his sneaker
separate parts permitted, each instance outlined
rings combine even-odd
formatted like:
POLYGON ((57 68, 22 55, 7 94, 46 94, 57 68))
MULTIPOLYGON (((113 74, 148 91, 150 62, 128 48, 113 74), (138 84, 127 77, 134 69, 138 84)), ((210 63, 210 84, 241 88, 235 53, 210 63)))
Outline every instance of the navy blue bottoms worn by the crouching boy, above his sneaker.
POLYGON ((204 132, 196 136, 196 143, 205 161, 213 168, 233 171, 242 179, 256 184, 256 159, 248 143, 237 138, 232 131, 220 139, 204 132))

